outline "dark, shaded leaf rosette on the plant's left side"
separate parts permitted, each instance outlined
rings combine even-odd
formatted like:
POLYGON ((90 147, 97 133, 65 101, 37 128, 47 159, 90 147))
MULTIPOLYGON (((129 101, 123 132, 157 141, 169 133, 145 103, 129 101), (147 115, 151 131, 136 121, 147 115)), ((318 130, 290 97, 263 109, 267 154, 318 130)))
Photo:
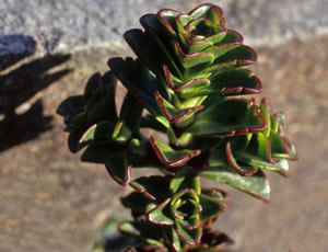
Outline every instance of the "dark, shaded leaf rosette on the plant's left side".
POLYGON ((139 122, 142 107, 128 93, 117 114, 116 78, 108 71, 94 73, 83 95, 63 101, 57 113, 65 117, 69 149, 72 152, 87 147, 83 161, 105 163, 109 174, 120 184, 130 177, 131 140, 140 139, 139 122))

